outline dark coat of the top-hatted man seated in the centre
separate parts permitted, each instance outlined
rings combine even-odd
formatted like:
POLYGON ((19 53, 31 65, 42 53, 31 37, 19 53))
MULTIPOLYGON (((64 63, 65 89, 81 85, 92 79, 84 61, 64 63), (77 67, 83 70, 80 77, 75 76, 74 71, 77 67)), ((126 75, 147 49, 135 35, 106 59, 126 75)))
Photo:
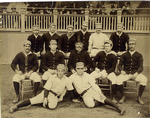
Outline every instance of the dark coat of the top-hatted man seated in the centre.
POLYGON ((68 69, 75 69, 77 62, 83 62, 88 70, 92 67, 92 59, 90 58, 88 52, 85 50, 81 50, 80 53, 78 53, 76 49, 71 51, 68 60, 68 69))

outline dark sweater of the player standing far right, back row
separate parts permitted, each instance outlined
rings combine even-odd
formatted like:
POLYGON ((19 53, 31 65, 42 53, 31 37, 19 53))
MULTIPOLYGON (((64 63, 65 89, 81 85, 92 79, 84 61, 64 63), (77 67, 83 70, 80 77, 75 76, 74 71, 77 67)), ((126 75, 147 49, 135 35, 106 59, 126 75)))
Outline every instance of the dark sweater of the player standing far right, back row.
POLYGON ((113 42, 113 48, 115 52, 118 51, 125 51, 126 50, 126 43, 129 42, 129 36, 126 33, 122 33, 122 35, 119 37, 116 32, 112 33, 110 36, 110 40, 113 42))

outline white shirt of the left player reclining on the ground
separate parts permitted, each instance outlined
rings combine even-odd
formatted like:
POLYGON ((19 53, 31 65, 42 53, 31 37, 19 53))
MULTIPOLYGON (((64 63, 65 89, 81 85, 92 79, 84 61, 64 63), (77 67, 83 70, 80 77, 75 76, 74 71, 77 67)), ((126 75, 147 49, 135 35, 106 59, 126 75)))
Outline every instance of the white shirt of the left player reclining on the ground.
POLYGON ((52 90, 57 95, 61 95, 67 86, 68 77, 64 76, 61 79, 57 77, 57 75, 52 75, 51 78, 48 79, 44 88, 47 90, 52 90))

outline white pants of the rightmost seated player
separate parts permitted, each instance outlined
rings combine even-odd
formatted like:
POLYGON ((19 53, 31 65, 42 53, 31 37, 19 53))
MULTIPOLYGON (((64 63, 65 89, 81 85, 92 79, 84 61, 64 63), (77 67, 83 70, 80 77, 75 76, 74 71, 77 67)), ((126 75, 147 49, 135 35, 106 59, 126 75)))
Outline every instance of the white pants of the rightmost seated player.
MULTIPOLYGON (((130 80, 132 79, 130 75, 126 74, 126 75, 122 75, 120 74, 118 76, 118 82, 117 84, 118 85, 121 85, 123 84, 123 82, 127 81, 127 80, 130 80)), ((139 74, 136 78, 135 78, 135 81, 139 82, 140 85, 143 85, 143 86, 146 86, 147 85, 147 82, 148 82, 148 79, 147 77, 145 77, 143 74, 139 74)))

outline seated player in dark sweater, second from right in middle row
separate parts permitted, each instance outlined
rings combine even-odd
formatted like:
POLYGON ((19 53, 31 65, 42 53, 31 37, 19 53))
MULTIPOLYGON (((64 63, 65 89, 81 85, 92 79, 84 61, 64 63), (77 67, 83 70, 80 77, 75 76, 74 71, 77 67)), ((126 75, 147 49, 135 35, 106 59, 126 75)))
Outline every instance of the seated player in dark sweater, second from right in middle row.
POLYGON ((115 96, 116 96, 116 82, 117 76, 114 73, 116 63, 117 63, 117 56, 114 51, 112 51, 112 41, 106 40, 104 42, 104 51, 100 51, 94 57, 94 68, 95 71, 91 73, 91 76, 94 79, 109 79, 112 82, 112 99, 113 102, 117 103, 115 96))

